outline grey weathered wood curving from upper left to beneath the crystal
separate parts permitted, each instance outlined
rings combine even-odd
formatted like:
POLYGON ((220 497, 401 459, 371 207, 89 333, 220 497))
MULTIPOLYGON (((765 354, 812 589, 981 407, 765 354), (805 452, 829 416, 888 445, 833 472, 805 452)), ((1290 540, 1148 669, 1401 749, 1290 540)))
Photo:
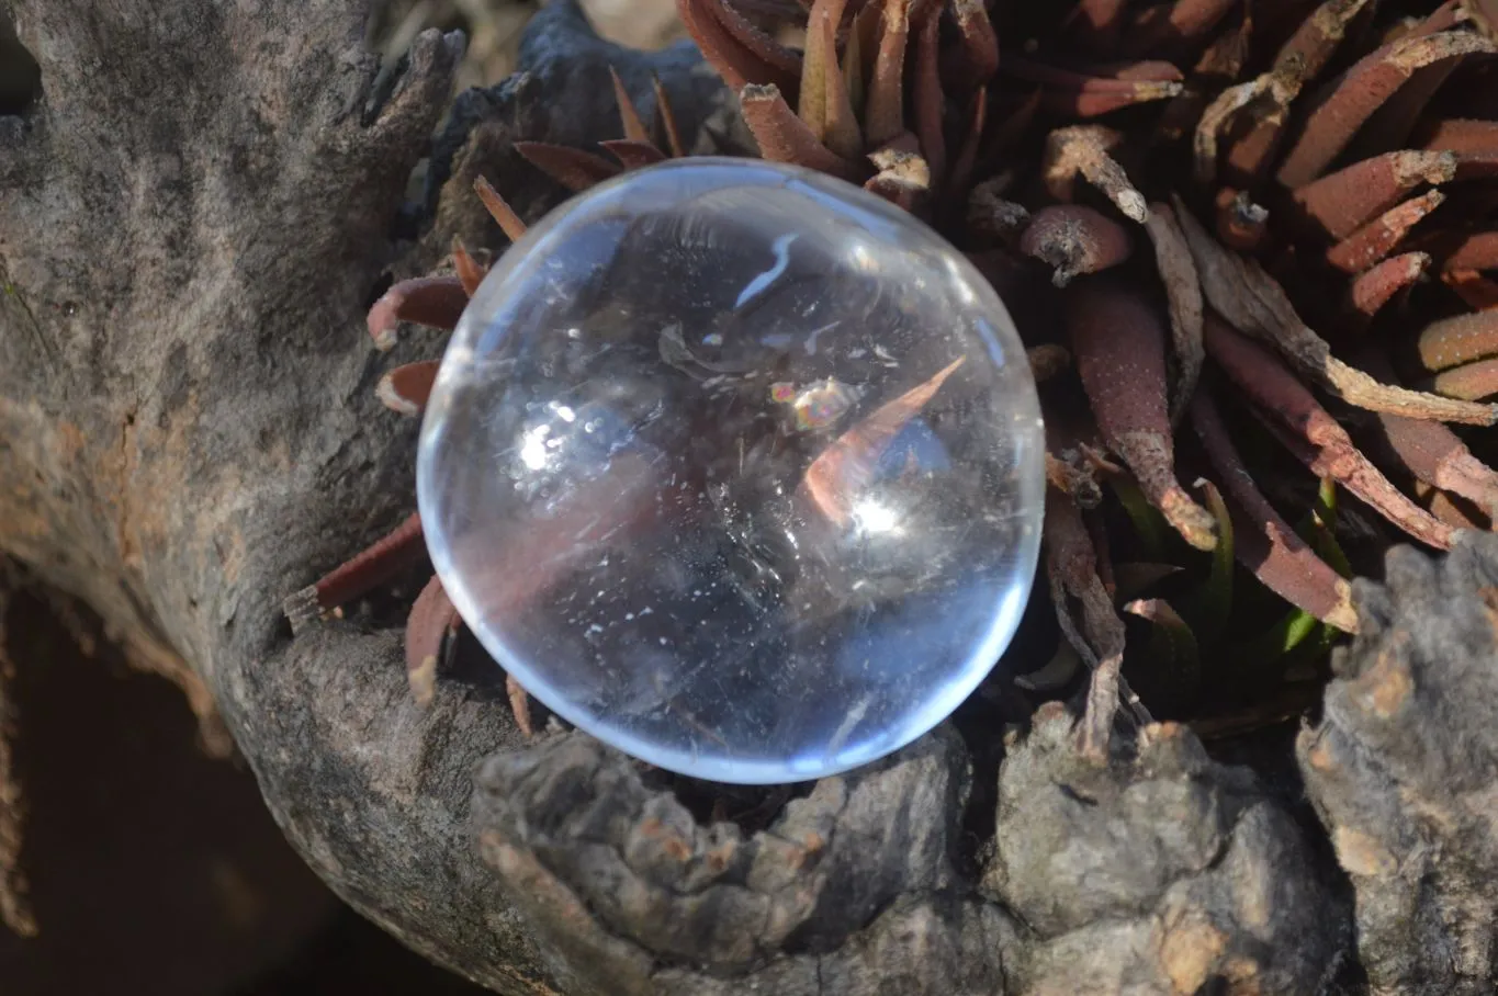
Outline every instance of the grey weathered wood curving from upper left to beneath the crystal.
MULTIPOLYGON (((0 550, 93 605, 205 716, 216 704, 288 837, 366 915, 503 993, 1333 978, 1353 912, 1320 828, 1176 726, 1100 767, 1044 708, 1008 746, 977 843, 962 818, 992 792, 950 726, 752 831, 700 822, 680 782, 581 734, 524 743, 497 669, 448 675, 418 707, 377 613, 292 640, 282 598, 413 503, 415 425, 373 388, 440 341, 373 352, 382 279, 436 265, 452 235, 499 244, 469 195, 479 171, 527 217, 554 204, 511 142, 617 135, 610 63, 643 108, 661 75, 694 148, 733 148, 731 100, 695 49, 617 49, 556 0, 523 72, 458 97, 431 144, 460 40, 422 36, 376 93, 354 0, 13 7, 43 97, 0 117, 0 550), (428 153, 425 204, 403 208, 428 153)), ((1356 824, 1348 806, 1327 803, 1333 825, 1356 824)), ((1465 825, 1491 846, 1491 825, 1465 825)))

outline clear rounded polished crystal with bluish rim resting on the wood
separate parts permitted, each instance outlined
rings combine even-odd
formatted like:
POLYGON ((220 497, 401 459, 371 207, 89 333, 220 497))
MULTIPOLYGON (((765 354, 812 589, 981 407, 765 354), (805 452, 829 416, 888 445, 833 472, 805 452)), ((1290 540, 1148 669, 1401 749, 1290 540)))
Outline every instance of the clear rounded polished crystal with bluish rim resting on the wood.
POLYGON ((532 695, 662 768, 776 783, 909 743, 993 668, 1043 446, 951 246, 837 180, 688 159, 505 253, 416 475, 437 575, 532 695))

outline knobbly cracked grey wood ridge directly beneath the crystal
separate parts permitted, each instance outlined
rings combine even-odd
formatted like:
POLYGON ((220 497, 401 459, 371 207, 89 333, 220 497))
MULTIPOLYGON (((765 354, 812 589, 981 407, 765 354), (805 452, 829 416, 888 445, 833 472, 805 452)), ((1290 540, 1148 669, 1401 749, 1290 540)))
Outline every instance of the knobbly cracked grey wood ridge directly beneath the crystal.
POLYGON ((953 869, 969 785, 941 726, 746 836, 565 734, 484 764, 473 833, 574 996, 1013 992, 1016 924, 953 869))

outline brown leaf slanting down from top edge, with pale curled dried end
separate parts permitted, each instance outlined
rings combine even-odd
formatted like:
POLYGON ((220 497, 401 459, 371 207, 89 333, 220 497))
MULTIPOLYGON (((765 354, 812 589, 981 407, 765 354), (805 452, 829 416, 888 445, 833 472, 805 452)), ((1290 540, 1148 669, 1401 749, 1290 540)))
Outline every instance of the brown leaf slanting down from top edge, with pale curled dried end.
POLYGON ((1284 139, 1290 105, 1311 79, 1326 67, 1327 60, 1347 34, 1348 25, 1369 0, 1327 0, 1305 18, 1275 55, 1275 64, 1257 79, 1230 87, 1207 114, 1197 132, 1198 177, 1210 181, 1215 168, 1216 133, 1227 118, 1240 108, 1251 108, 1254 127, 1233 142, 1227 154, 1227 181, 1252 189, 1267 172, 1284 139), (1204 145, 1210 145, 1206 150, 1204 145), (1203 156, 1210 157, 1203 162, 1203 156), (1203 172, 1204 171, 1204 172, 1203 172))

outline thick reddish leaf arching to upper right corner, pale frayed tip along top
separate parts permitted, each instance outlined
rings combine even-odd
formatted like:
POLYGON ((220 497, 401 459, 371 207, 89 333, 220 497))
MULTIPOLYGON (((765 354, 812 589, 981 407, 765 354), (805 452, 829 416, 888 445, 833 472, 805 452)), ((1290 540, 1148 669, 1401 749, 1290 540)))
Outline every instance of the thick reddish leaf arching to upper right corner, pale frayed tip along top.
POLYGON ((1362 58, 1305 121, 1276 174, 1291 190, 1314 181, 1347 148, 1359 127, 1420 67, 1494 43, 1474 31, 1440 31, 1392 42, 1362 58))

